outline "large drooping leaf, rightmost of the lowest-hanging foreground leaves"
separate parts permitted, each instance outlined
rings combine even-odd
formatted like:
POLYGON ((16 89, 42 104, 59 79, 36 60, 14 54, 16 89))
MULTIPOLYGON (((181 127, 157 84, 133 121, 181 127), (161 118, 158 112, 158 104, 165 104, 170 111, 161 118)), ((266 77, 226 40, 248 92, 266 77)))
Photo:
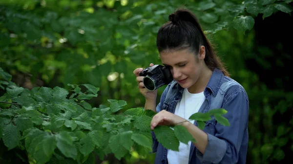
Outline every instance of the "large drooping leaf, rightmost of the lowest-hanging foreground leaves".
MULTIPOLYGON (((131 139, 131 138, 130 138, 131 139)), ((124 157, 127 154, 127 149, 123 146, 124 143, 120 139, 120 134, 111 136, 109 139, 109 147, 114 153, 114 156, 121 160, 122 157, 124 157)))

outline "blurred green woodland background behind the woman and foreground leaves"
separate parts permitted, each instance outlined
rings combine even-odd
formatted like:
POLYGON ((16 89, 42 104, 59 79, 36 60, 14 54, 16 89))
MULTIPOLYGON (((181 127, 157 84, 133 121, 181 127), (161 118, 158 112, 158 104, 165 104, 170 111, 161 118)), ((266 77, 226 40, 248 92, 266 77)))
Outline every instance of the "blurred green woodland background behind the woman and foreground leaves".
MULTIPOLYGON (((127 101, 124 109, 144 107, 133 70, 161 64, 157 31, 186 7, 248 93, 247 163, 282 164, 293 153, 292 6, 292 0, 0 0, 0 67, 23 88, 88 83, 100 87, 93 107, 107 99, 127 101)), ((131 158, 109 154, 96 164, 153 164, 154 157, 134 150, 131 158)))

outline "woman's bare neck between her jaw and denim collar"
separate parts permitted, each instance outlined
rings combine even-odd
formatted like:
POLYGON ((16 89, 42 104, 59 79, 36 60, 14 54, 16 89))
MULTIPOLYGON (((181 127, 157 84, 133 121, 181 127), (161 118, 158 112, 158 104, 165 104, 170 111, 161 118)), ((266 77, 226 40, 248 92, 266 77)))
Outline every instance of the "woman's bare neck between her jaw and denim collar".
POLYGON ((194 83, 191 87, 188 88, 188 91, 190 93, 200 93, 205 91, 209 79, 211 77, 212 71, 208 68, 207 65, 205 65, 204 69, 200 73, 200 76, 198 77, 196 83, 194 83))

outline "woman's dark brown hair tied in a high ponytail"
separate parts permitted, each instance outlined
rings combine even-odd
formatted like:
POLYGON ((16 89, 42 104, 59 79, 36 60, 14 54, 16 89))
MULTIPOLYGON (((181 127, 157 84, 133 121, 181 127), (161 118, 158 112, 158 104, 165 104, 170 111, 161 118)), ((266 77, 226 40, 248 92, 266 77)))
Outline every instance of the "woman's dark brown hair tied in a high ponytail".
POLYGON ((196 54, 200 46, 205 46, 205 63, 211 71, 218 68, 226 76, 230 76, 219 57, 215 54, 211 43, 205 36, 195 15, 188 9, 178 9, 169 15, 169 21, 164 24, 157 35, 159 52, 165 50, 183 50, 189 48, 196 54))

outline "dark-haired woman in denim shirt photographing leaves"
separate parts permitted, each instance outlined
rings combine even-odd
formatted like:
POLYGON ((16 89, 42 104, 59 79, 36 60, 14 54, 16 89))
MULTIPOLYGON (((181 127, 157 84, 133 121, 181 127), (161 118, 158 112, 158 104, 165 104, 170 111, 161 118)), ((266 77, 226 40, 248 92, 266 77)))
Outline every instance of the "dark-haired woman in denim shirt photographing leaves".
MULTIPOLYGON (((157 91, 144 88, 143 77, 134 70, 138 87, 146 97, 145 109, 157 114, 150 128, 158 125, 186 127, 196 143, 180 143, 179 152, 167 150, 153 134, 155 164, 245 164, 248 147, 249 100, 244 88, 229 77, 216 56, 194 14, 179 9, 169 16, 157 35, 162 63, 174 80, 163 92, 156 106, 157 91), (187 121, 196 112, 223 108, 230 126, 212 119, 203 130, 196 121, 187 121)), ((153 66, 153 64, 150 64, 153 66)))

